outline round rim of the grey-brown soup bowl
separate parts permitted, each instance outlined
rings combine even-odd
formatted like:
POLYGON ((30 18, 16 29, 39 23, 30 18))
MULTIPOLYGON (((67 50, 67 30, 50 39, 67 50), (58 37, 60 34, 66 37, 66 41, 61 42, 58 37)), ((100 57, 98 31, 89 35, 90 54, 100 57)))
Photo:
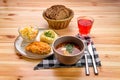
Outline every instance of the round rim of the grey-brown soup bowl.
POLYGON ((74 56, 77 56, 77 55, 79 55, 79 54, 81 54, 81 53, 84 53, 84 51, 85 51, 85 44, 84 44, 84 42, 82 41, 82 39, 79 39, 79 38, 77 38, 77 37, 75 37, 75 36, 61 36, 61 37, 57 38, 56 40, 53 42, 52 48, 53 48, 53 51, 57 52, 57 54, 59 54, 59 55, 62 55, 62 56, 65 56, 65 57, 74 57, 74 56), (56 40, 58 40, 58 39, 60 39, 60 38, 64 38, 64 37, 72 37, 72 38, 76 38, 76 39, 80 40, 81 43, 83 44, 83 49, 80 50, 79 53, 74 54, 74 55, 67 55, 67 56, 66 56, 66 55, 61 54, 59 51, 57 51, 57 50, 55 49, 54 43, 56 42, 56 40))

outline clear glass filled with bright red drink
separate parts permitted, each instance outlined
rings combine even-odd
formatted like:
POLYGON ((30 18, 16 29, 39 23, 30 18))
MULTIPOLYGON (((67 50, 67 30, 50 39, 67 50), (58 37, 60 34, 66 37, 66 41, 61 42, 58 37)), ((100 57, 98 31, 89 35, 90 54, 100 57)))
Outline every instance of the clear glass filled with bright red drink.
POLYGON ((88 36, 92 28, 94 19, 87 16, 78 17, 77 23, 79 28, 79 34, 81 36, 88 36))

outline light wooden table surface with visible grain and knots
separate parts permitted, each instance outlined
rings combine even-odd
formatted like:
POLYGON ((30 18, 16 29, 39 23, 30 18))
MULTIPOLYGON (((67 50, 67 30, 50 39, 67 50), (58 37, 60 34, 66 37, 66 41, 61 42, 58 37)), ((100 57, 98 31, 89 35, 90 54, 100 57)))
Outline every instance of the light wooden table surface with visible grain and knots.
POLYGON ((120 80, 120 0, 0 0, 0 80, 120 80), (91 37, 102 63, 99 75, 85 75, 83 68, 33 70, 41 60, 18 55, 14 48, 18 27, 36 25, 48 28, 43 11, 63 4, 75 15, 68 28, 56 30, 59 35, 78 33, 77 17, 91 16, 91 37))

